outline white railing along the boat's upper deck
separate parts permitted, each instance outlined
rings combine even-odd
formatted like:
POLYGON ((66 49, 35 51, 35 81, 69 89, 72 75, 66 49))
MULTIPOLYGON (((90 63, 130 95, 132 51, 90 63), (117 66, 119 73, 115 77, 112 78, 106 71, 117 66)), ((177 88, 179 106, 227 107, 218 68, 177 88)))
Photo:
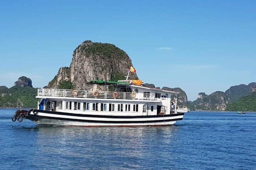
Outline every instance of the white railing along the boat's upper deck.
MULTIPOLYGON (((114 97, 113 91, 84 91, 84 90, 64 90, 64 89, 48 89, 40 88, 37 90, 39 97, 76 97, 76 98, 97 98, 97 99, 123 99, 123 100, 157 100, 155 94, 136 93, 132 97, 132 93, 116 92, 117 97, 114 97), (74 95, 75 94, 75 95, 74 95)), ((134 95, 134 94, 133 94, 134 95)))

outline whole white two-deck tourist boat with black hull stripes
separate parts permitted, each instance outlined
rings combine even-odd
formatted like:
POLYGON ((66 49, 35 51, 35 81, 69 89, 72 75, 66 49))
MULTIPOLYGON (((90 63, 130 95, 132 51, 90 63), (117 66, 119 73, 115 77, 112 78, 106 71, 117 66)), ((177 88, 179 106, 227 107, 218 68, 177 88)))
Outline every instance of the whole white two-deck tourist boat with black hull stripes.
POLYGON ((91 91, 38 89, 37 109, 18 110, 12 120, 24 118, 37 125, 69 126, 168 126, 182 120, 177 92, 141 85, 140 80, 93 81, 91 91), (115 91, 101 91, 112 85, 115 91), (174 102, 171 95, 175 96, 174 102), (175 107, 176 109, 176 107, 175 107))

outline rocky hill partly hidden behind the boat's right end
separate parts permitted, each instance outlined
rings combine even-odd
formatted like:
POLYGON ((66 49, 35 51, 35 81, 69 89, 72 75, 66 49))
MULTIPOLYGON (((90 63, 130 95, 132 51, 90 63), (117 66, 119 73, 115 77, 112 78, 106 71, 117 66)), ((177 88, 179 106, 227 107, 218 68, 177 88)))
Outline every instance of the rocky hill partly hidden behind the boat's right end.
MULTIPOLYGON (((184 108, 184 107, 188 107, 188 102, 187 102, 187 94, 185 93, 185 91, 183 91, 181 88, 176 87, 176 88, 169 88, 169 87, 163 87, 163 90, 169 90, 169 91, 175 91, 175 92, 179 92, 178 96, 177 96, 177 106, 179 108, 184 108)), ((171 99, 174 99, 174 95, 171 96, 171 99)))

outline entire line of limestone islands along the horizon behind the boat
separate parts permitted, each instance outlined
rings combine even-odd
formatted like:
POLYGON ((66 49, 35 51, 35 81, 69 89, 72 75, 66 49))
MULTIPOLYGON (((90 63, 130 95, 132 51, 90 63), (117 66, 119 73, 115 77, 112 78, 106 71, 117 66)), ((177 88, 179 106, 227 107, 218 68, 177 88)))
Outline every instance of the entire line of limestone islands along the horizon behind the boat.
MULTIPOLYGON (((127 70, 133 66, 125 51, 113 44, 84 41, 75 48, 69 67, 61 67, 57 75, 44 88, 88 89, 87 82, 92 80, 117 81, 124 79, 127 70)), ((139 79, 132 74, 130 79, 139 79)), ((154 84, 144 83, 146 87, 154 84)), ((256 111, 256 83, 235 85, 225 92, 216 91, 210 95, 203 92, 198 94, 195 101, 188 101, 187 94, 181 88, 163 87, 164 90, 179 92, 178 107, 189 107, 190 110, 216 111, 256 111)), ((1 108, 35 108, 37 107, 37 88, 33 88, 32 80, 20 77, 14 86, 0 86, 1 108)), ((174 96, 173 96, 174 97, 174 96)))

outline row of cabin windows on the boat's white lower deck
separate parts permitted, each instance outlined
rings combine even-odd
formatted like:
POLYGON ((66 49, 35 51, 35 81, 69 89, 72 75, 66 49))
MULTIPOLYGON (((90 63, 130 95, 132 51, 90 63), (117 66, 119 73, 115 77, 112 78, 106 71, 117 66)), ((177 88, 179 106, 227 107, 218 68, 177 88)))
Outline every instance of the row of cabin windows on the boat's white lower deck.
MULTIPOLYGON (((50 110, 50 101, 47 103, 47 108, 50 110), (49 106, 48 106, 49 105, 49 106)), ((108 104, 108 110, 107 110, 107 104, 106 103, 92 103, 92 111, 109 111, 114 112, 115 106, 117 105, 117 111, 118 112, 138 112, 139 111, 139 104, 108 104)), ((143 105, 146 108, 146 104, 143 105)), ((88 102, 74 102, 74 110, 81 110, 83 111, 90 110, 90 103, 88 102), (83 107, 81 105, 83 104, 83 107)), ((58 109, 62 110, 62 101, 58 101, 58 109)), ((72 110, 72 101, 66 101, 65 102, 65 110, 72 110)), ((144 111, 143 111, 144 112, 144 111)), ((146 109, 145 109, 146 112, 146 109)))

